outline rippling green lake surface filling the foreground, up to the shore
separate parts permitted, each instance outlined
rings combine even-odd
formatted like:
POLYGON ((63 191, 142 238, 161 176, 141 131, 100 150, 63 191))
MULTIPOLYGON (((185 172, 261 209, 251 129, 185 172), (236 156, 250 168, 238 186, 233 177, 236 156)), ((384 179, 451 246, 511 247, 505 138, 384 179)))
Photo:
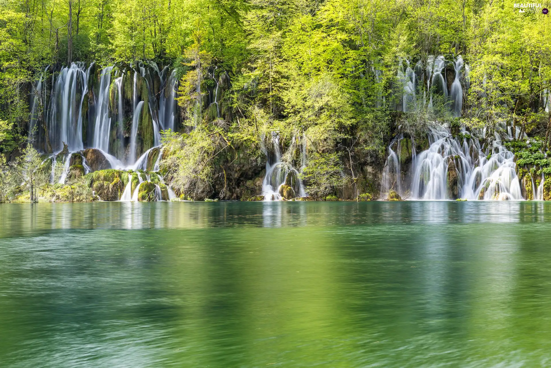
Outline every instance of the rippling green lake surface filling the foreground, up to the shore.
POLYGON ((3 204, 0 366, 551 366, 551 203, 3 204))

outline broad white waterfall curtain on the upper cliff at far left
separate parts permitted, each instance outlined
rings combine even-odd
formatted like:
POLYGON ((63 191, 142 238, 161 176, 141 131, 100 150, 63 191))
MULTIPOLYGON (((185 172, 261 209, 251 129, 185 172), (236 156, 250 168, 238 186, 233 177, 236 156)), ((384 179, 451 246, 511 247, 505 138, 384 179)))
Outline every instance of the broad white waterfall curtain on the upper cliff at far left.
POLYGON ((87 91, 88 79, 83 63, 72 63, 70 67, 61 69, 52 85, 50 110, 46 115, 46 125, 54 151, 60 151, 63 142, 68 145, 69 151, 84 148, 81 112, 87 91))

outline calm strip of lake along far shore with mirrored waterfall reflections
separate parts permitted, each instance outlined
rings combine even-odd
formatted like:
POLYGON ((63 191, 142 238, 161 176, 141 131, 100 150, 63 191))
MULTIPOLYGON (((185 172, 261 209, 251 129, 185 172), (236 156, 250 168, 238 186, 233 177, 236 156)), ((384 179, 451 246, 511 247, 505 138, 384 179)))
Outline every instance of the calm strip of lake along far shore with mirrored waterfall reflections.
POLYGON ((95 202, 6 204, 0 209, 0 236, 52 229, 538 223, 551 219, 551 203, 547 202, 95 202))

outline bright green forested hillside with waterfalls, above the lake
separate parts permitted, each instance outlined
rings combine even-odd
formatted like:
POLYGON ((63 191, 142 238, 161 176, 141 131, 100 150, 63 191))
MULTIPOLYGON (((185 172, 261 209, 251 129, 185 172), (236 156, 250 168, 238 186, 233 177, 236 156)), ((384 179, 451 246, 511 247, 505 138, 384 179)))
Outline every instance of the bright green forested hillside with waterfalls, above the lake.
POLYGON ((505 0, 0 0, 0 198, 551 199, 549 17, 505 0))

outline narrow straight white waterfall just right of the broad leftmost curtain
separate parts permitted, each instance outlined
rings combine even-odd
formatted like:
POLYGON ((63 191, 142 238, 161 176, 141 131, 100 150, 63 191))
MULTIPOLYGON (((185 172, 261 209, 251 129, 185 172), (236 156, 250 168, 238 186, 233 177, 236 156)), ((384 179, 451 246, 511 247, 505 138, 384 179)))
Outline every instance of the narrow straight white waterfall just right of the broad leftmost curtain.
POLYGON ((98 105, 96 106, 96 122, 94 126, 93 148, 104 152, 109 151, 109 135, 111 118, 109 117, 109 88, 111 85, 111 70, 113 67, 101 69, 98 105))

